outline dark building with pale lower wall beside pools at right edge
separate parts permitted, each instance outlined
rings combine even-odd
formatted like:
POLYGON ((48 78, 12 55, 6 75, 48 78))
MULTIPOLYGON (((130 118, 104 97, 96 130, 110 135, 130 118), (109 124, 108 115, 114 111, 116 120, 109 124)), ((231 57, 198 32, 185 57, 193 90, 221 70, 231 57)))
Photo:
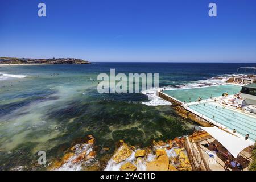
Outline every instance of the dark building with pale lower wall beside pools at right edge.
POLYGON ((256 84, 242 86, 241 96, 245 99, 246 104, 256 105, 256 84))

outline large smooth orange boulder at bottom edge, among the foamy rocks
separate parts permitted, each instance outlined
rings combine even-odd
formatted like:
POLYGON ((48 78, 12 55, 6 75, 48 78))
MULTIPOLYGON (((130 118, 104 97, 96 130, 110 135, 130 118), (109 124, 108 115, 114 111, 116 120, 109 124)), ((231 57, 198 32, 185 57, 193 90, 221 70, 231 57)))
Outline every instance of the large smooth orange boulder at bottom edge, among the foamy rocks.
POLYGON ((159 156, 156 160, 146 164, 147 171, 168 171, 169 159, 168 156, 159 156))

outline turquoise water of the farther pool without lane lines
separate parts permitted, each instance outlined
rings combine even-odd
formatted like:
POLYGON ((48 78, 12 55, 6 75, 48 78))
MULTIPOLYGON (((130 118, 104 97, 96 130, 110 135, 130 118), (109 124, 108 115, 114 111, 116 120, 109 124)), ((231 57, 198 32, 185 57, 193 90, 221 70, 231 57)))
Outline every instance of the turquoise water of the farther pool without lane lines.
POLYGON ((222 93, 228 92, 229 94, 235 94, 240 91, 241 91, 241 86, 218 85, 218 86, 209 86, 204 88, 164 90, 163 92, 182 102, 189 102, 189 101, 195 102, 199 97, 201 97, 202 99, 208 99, 211 96, 212 97, 222 96, 222 93))

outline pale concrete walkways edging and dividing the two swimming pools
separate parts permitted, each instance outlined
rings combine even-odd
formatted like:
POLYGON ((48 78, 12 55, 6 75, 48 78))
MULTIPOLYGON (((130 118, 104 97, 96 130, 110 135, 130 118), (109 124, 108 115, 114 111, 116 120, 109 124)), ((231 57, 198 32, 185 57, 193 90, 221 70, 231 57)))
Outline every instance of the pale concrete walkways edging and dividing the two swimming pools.
MULTIPOLYGON (((231 85, 231 84, 230 84, 230 85, 231 85)), ((237 84, 232 84, 232 85, 237 85, 237 84)), ((241 85, 239 85, 239 86, 241 86, 241 85)), ((208 86, 208 87, 209 87, 209 86, 208 86)), ((200 87, 200 88, 202 88, 202 87, 200 87)), ((198 88, 198 89, 200 89, 200 88, 198 88)), ((184 89, 184 88, 183 88, 183 89, 184 89)), ((190 89, 190 88, 186 88, 186 89, 190 89)), ((179 89, 174 89, 174 90, 179 90, 179 89)), ((213 97, 213 98, 201 100, 200 102, 189 102, 189 103, 184 103, 184 102, 182 102, 182 101, 179 101, 179 100, 177 100, 176 98, 174 98, 174 97, 172 97, 172 96, 169 96, 168 94, 166 94, 166 93, 164 93, 164 92, 162 92, 162 91, 160 91, 160 90, 158 91, 158 96, 161 97, 161 98, 163 98, 164 100, 167 100, 167 101, 171 102, 172 104, 180 105, 181 107, 184 107, 184 109, 187 110, 187 111, 189 111, 190 113, 193 113, 193 114, 197 115, 198 117, 202 118, 204 121, 207 121, 207 122, 212 123, 213 125, 215 125, 215 126, 217 126, 217 127, 220 127, 221 129, 227 131, 227 132, 230 133, 230 134, 236 135, 237 137, 240 137, 240 138, 242 138, 242 139, 245 138, 245 136, 242 136, 242 135, 240 135, 240 134, 238 134, 238 133, 233 133, 232 130, 230 130, 228 127, 222 125, 221 123, 218 123, 218 122, 214 121, 213 118, 208 118, 207 116, 205 116, 205 115, 203 115, 203 114, 201 114, 201 113, 199 113, 199 112, 197 112, 197 111, 195 111, 195 110, 193 110, 193 109, 191 109, 191 108, 189 107, 189 105, 195 105, 195 104, 199 104, 199 103, 202 104, 202 103, 207 103, 207 102, 213 102, 214 105, 223 107, 223 105, 219 104, 218 101, 221 101, 221 100, 224 100, 224 99, 225 99, 225 100, 231 99, 231 98, 234 97, 233 95, 229 95, 229 96, 227 96, 227 97, 225 97, 225 98, 222 97, 222 96, 220 96, 220 97, 213 97), (214 102, 214 100, 216 100, 216 102, 214 102)), ((226 108, 227 108, 227 109, 230 109, 230 110, 237 111, 237 112, 240 113, 240 114, 249 115, 250 117, 254 117, 254 118, 256 119, 256 114, 249 114, 249 113, 246 113, 245 111, 241 111, 241 110, 235 109, 235 108, 232 108, 232 109, 229 108, 229 107, 226 107, 226 108)), ((200 124, 201 124, 201 123, 200 123, 200 124)), ((254 142, 253 142, 252 140, 249 140, 249 141, 250 141, 252 144, 254 144, 254 142)))

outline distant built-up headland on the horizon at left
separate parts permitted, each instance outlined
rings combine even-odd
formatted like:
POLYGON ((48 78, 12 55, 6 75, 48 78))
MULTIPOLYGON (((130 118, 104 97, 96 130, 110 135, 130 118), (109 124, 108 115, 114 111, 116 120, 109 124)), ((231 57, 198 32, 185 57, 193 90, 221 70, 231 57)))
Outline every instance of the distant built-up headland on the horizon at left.
POLYGON ((0 57, 0 64, 90 64, 90 62, 75 58, 31 59, 0 57))

